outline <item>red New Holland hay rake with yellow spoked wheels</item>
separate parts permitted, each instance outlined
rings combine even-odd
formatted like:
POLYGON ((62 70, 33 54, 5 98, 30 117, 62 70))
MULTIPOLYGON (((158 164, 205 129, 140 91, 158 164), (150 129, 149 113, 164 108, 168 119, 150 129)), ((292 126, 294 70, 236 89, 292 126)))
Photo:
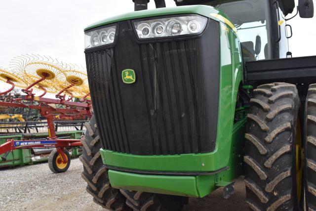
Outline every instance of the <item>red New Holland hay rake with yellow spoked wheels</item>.
POLYGON ((9 84, 9 88, 0 93, 5 97, 1 107, 27 108, 40 112, 47 121, 48 137, 44 140, 8 139, 0 145, 2 161, 9 152, 16 149, 55 148, 51 151, 48 165, 55 172, 64 172, 70 165, 67 149, 82 146, 79 139, 60 139, 56 135, 55 120, 78 120, 91 117, 91 102, 86 85, 86 75, 74 69, 74 66, 59 63, 48 57, 20 56, 13 59, 11 71, 0 70, 0 80, 9 84), (16 87, 22 88, 23 95, 13 96, 10 92, 16 87), (26 87, 26 88, 23 88, 26 87), (41 91, 38 93, 37 91, 41 91), (56 99, 44 95, 56 93, 56 99), (81 97, 80 102, 72 99, 81 97))

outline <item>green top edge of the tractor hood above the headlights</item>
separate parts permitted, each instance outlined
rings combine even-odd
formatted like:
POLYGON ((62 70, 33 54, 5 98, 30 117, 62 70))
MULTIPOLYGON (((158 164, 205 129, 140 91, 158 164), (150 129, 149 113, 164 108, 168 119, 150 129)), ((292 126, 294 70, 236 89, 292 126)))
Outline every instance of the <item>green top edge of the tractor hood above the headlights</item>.
POLYGON ((95 27, 104 26, 111 23, 116 23, 118 21, 123 21, 123 20, 133 20, 137 18, 146 18, 146 17, 162 16, 162 15, 174 15, 174 14, 189 14, 189 13, 200 14, 205 17, 218 20, 214 16, 210 15, 211 13, 215 13, 215 14, 222 15, 226 19, 230 20, 229 17, 225 13, 211 6, 206 6, 206 5, 177 6, 177 7, 140 10, 140 11, 133 11, 133 12, 125 13, 125 14, 120 14, 120 15, 93 23, 87 26, 84 29, 84 31, 93 29, 95 27))

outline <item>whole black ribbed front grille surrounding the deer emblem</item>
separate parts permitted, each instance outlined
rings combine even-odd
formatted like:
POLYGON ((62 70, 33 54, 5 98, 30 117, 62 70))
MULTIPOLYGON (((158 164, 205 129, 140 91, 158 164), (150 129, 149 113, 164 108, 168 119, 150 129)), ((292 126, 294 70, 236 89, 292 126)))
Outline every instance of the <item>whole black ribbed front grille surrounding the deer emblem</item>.
MULTIPOLYGON (((209 22, 208 28, 213 30, 204 34, 218 33, 216 23, 209 22)), ((103 147, 135 155, 213 151, 219 90, 218 35, 215 46, 208 48, 216 50, 210 52, 201 46, 209 40, 203 36, 137 43, 131 37, 135 36, 133 31, 126 30, 127 21, 120 22, 119 29, 115 47, 86 52, 103 147), (121 71, 127 68, 135 70, 136 83, 123 84, 121 71)))

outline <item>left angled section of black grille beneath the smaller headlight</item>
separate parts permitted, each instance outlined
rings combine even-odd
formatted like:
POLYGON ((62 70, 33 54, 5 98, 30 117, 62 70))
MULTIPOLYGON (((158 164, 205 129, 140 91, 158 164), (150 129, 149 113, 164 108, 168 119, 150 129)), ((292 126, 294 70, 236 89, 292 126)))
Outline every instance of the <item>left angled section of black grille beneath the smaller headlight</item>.
POLYGON ((89 86, 103 147, 130 152, 120 100, 119 74, 112 64, 113 49, 87 54, 89 86), (115 74, 117 73, 117 74, 115 74))

